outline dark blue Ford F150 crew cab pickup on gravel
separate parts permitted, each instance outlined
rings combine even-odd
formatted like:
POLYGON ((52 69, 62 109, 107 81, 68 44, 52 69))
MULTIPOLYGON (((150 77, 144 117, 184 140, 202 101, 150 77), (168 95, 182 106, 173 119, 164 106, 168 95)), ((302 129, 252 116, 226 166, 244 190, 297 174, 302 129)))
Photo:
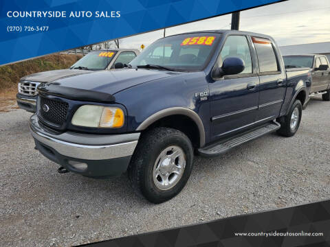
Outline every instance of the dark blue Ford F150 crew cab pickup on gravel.
POLYGON ((309 68, 285 69, 270 36, 232 30, 161 38, 115 67, 40 84, 30 130, 62 170, 127 172, 153 203, 183 189, 194 154, 273 131, 293 136, 311 80, 309 68))

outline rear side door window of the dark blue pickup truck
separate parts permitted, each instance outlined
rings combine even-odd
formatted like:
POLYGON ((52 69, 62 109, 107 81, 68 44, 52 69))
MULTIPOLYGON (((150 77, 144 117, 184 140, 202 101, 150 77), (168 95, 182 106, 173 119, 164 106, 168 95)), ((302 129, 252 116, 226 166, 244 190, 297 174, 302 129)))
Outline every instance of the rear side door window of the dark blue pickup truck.
POLYGON ((279 71, 272 41, 267 38, 257 37, 252 37, 252 41, 254 43, 254 47, 256 47, 260 72, 279 71))

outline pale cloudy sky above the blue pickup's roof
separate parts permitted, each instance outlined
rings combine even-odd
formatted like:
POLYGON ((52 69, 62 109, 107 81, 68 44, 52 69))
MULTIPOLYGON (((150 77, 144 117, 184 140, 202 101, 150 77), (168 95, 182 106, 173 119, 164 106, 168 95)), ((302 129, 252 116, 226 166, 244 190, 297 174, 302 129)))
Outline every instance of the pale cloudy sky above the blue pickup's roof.
MULTIPOLYGON (((166 29, 166 36, 230 29, 231 14, 166 29)), ((280 46, 330 41, 330 0, 289 0, 241 12, 240 30, 272 36, 280 46)), ((164 30, 120 40, 120 48, 139 48, 162 38, 164 30)))

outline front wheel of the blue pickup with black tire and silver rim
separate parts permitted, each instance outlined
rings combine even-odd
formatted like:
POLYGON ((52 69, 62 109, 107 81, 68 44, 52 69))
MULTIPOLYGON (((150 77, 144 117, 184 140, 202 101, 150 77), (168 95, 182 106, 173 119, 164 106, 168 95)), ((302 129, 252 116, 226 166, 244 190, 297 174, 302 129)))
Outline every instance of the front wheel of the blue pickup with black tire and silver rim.
POLYGON ((173 128, 154 128, 137 143, 127 174, 137 195, 162 203, 184 188, 192 160, 192 143, 186 134, 173 128))

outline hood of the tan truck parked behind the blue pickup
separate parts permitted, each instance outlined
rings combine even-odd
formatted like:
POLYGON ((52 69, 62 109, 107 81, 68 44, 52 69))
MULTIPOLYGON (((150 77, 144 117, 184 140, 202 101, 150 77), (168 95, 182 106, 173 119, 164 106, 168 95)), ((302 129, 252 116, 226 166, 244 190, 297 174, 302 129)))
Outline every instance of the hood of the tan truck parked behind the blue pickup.
POLYGON ((54 71, 44 71, 39 73, 34 73, 31 75, 26 75, 21 80, 28 80, 32 82, 52 82, 60 78, 65 78, 72 75, 82 75, 85 73, 91 73, 94 71, 87 71, 81 69, 56 69, 54 71))

